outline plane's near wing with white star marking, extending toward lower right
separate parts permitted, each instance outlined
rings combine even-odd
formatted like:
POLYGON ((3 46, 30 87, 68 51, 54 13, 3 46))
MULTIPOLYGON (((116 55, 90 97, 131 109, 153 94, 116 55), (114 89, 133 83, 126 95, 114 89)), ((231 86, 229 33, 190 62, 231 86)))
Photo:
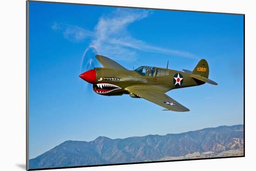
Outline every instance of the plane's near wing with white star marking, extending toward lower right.
POLYGON ((187 112, 189 111, 188 108, 182 106, 180 103, 175 101, 174 99, 170 98, 168 95, 164 94, 163 92, 153 90, 153 89, 146 89, 142 87, 128 87, 126 88, 129 93, 133 93, 135 95, 139 95, 142 98, 151 101, 163 108, 167 108, 168 110, 176 111, 176 112, 187 112))

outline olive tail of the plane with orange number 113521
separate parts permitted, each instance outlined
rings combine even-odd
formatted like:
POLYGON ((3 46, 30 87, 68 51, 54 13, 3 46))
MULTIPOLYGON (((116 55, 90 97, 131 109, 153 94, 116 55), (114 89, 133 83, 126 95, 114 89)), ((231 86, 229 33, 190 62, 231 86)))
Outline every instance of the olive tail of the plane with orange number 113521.
POLYGON ((205 59, 201 59, 195 69, 191 72, 191 77, 202 82, 207 82, 209 84, 218 85, 216 82, 210 80, 209 76, 209 65, 205 59))

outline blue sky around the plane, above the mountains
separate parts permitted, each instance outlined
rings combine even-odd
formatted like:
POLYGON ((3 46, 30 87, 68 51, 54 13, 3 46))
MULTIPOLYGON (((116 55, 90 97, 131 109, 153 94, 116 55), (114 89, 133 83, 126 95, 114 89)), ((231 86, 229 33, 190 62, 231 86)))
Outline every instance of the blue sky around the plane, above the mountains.
POLYGON ((29 158, 66 140, 181 133, 243 124, 243 16, 29 3, 29 158), (86 53, 85 53, 86 52, 86 53), (193 70, 204 58, 219 85, 169 91, 190 109, 162 111, 144 99, 102 96, 79 75, 101 54, 141 65, 193 70))

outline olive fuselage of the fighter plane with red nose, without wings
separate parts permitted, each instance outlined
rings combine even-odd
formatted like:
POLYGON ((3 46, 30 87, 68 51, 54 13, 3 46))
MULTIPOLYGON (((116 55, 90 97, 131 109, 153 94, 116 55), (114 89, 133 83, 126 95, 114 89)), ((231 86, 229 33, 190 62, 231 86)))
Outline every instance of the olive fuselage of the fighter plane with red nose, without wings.
MULTIPOLYGON (((202 85, 191 77, 191 74, 165 68, 142 66, 136 70, 117 70, 110 68, 94 68, 80 75, 82 79, 93 84, 93 90, 100 95, 129 94, 130 86, 140 86, 167 92, 202 85)), ((130 94, 131 97, 140 97, 130 94)))

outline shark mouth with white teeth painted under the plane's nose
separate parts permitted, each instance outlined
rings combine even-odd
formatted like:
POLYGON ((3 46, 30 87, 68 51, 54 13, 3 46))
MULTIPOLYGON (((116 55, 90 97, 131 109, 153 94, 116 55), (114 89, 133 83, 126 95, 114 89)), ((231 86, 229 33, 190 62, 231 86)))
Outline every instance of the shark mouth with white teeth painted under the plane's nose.
POLYGON ((121 89, 121 87, 111 83, 97 83, 93 85, 94 92, 99 94, 107 94, 111 91, 121 89))

